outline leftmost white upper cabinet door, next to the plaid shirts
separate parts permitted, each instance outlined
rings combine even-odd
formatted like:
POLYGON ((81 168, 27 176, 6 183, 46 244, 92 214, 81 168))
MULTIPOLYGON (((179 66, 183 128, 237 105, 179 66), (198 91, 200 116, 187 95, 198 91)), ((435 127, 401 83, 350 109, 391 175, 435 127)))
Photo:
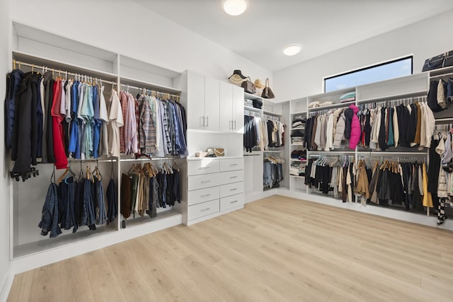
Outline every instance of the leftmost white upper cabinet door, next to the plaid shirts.
POLYGON ((188 129, 205 129, 205 76, 188 72, 188 129))

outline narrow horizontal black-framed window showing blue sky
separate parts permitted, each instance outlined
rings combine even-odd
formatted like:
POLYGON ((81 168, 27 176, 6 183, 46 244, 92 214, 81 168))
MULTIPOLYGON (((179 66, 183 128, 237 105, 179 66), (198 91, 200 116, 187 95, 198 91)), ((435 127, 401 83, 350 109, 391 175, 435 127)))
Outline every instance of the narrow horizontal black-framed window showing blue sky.
POLYGON ((324 78, 324 92, 408 76, 413 72, 413 57, 403 57, 389 62, 348 71, 344 74, 324 78))

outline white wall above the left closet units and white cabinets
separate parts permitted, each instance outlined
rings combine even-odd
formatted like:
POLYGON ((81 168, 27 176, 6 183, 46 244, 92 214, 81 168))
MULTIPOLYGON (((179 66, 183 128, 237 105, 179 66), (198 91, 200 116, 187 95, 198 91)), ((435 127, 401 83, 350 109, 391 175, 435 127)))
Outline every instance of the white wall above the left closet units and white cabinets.
POLYGON ((134 1, 13 1, 13 20, 120 52, 174 71, 228 79, 234 69, 252 79, 272 72, 169 21, 134 1))

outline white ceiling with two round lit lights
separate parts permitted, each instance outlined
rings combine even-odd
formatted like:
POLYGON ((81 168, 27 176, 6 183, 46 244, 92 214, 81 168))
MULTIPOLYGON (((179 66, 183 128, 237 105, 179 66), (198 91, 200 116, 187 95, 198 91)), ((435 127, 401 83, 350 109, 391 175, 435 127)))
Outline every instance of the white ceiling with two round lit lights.
POLYGON ((134 1, 271 71, 453 8, 452 0, 246 0, 246 12, 234 17, 224 0, 134 1), (294 43, 302 51, 285 56, 294 43))

